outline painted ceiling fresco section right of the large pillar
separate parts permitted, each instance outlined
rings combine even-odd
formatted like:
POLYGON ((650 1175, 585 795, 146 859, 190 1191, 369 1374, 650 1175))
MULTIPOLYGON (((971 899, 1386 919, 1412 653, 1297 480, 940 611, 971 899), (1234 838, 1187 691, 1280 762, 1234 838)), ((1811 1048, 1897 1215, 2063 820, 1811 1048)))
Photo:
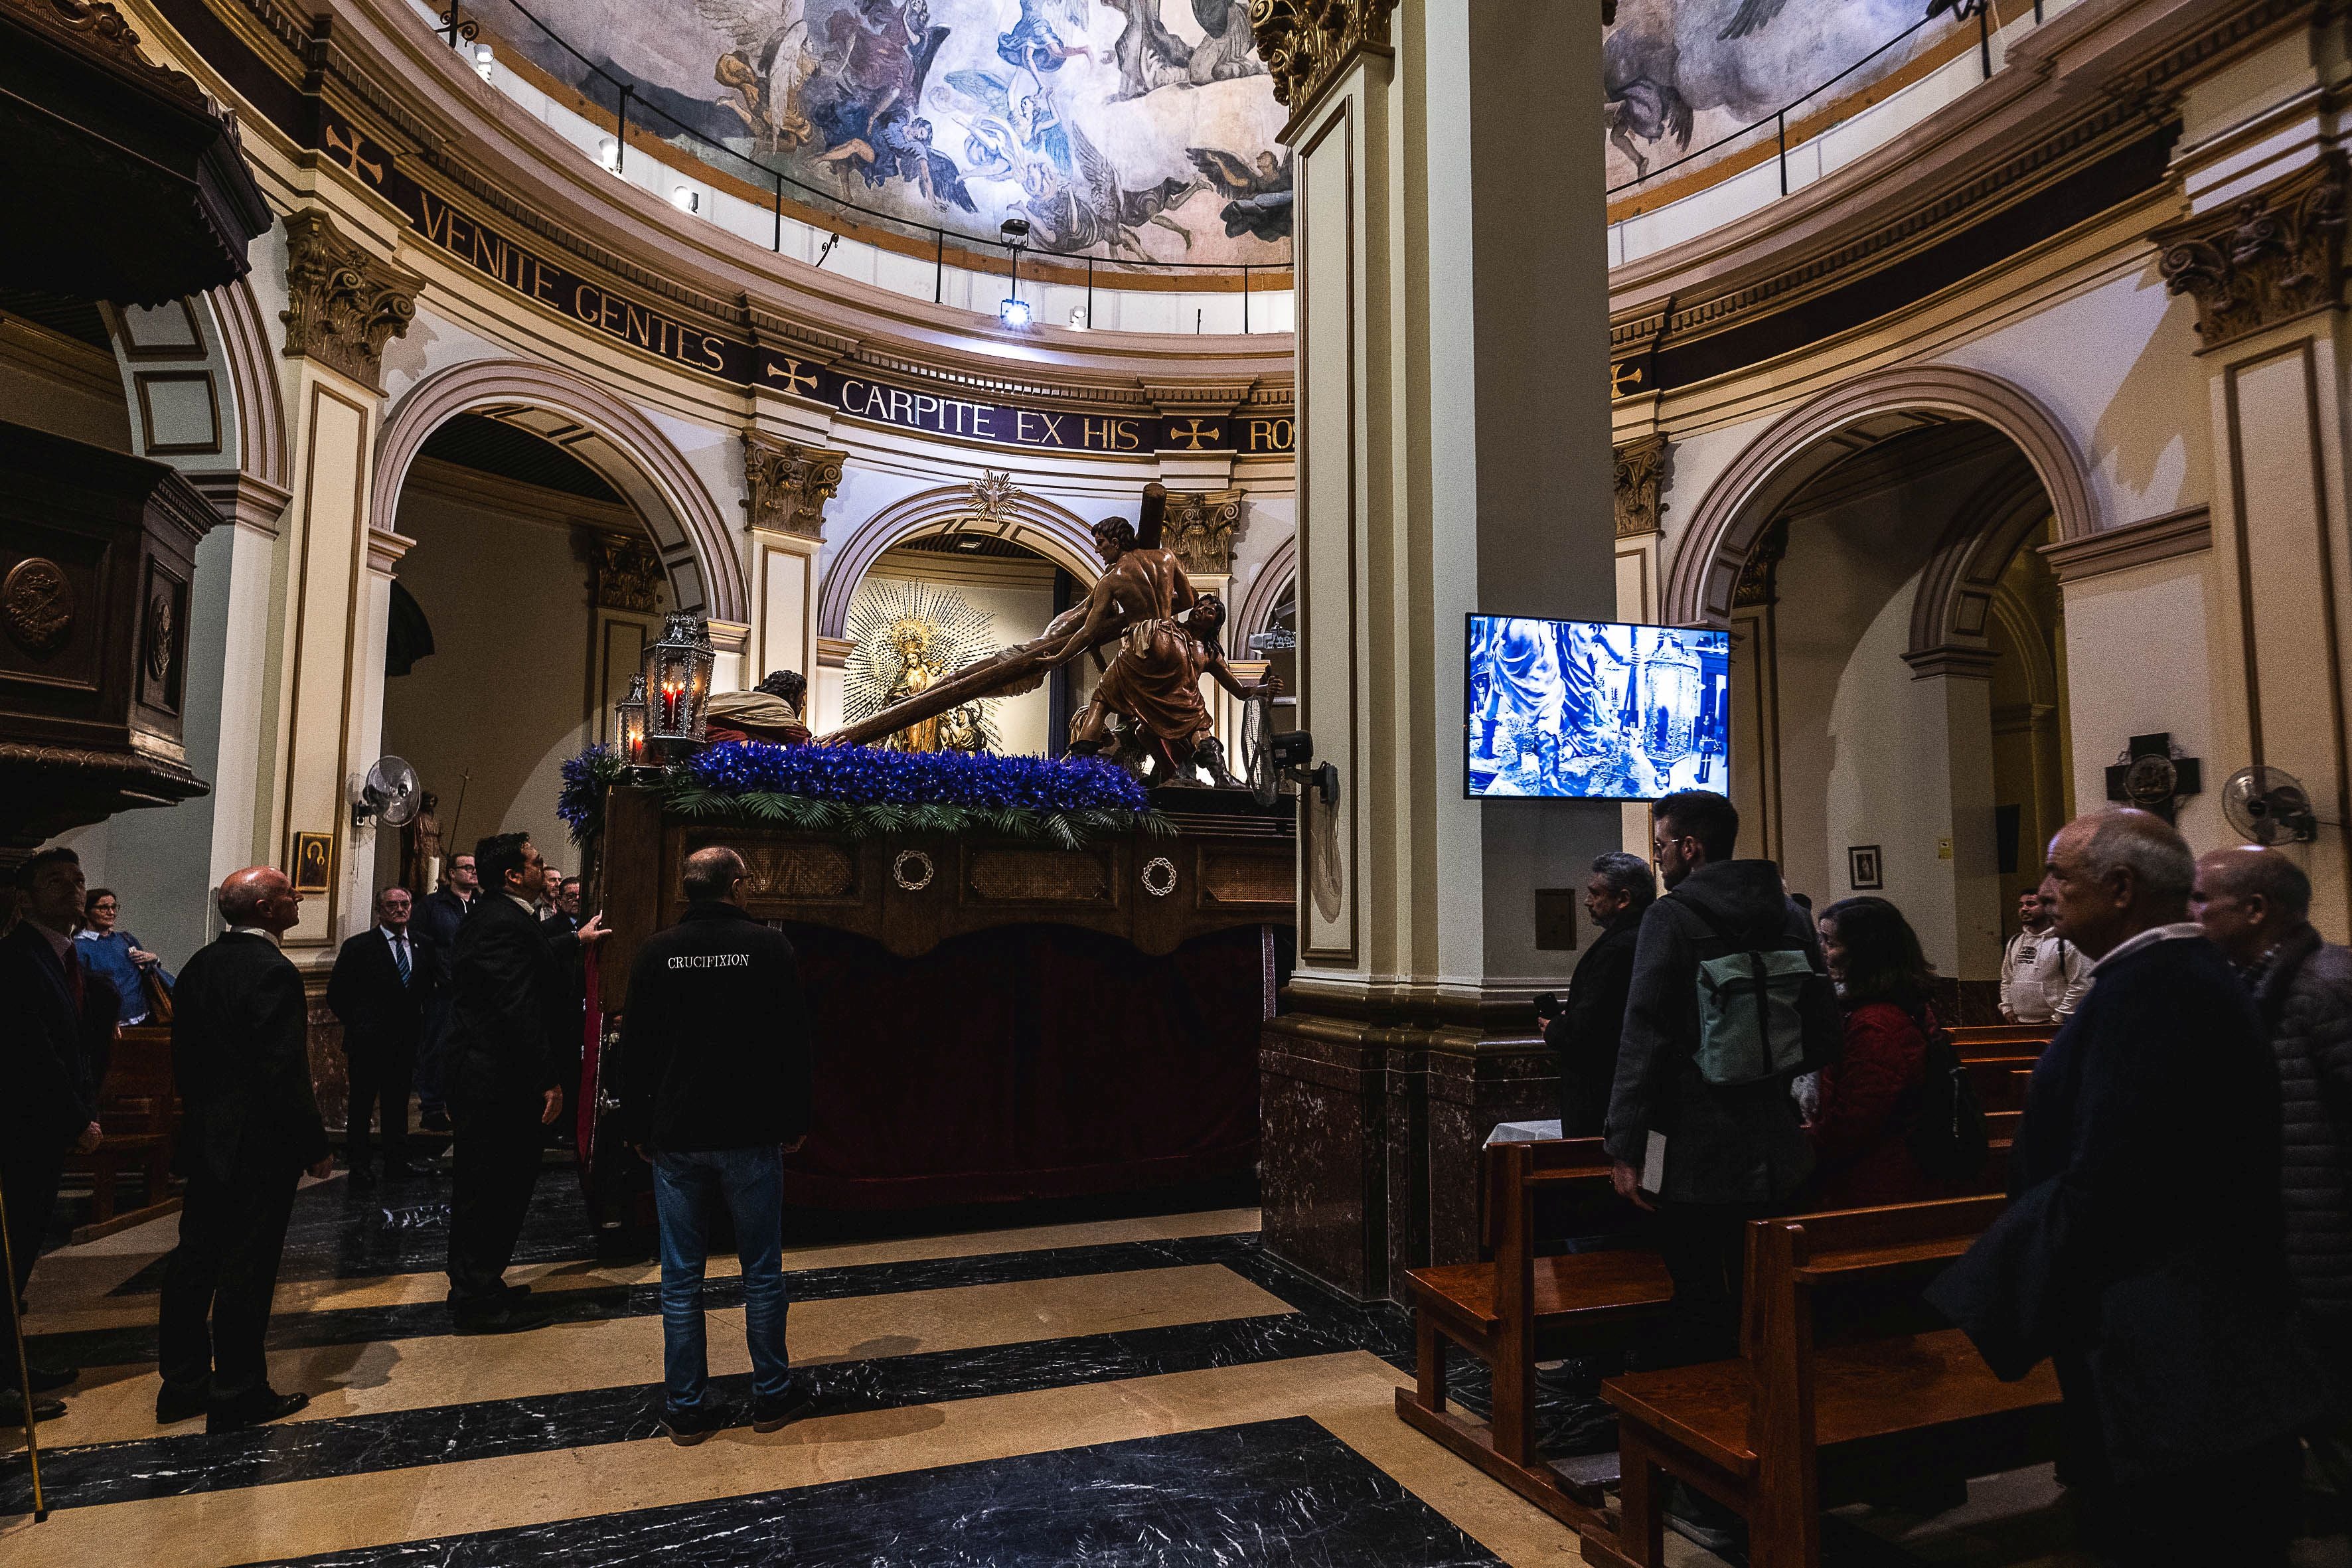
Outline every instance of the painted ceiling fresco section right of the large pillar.
MULTIPOLYGON (((1644 174, 1677 179, 1771 146, 1773 127, 1764 125, 1703 153, 1740 127, 1769 122, 1783 106, 1900 38, 1924 9, 1922 0, 1618 0, 1618 19, 1602 47, 1611 195, 1635 195, 1625 186, 1644 174)), ((1945 40, 1952 26, 1938 19, 1919 28, 1809 99, 1790 115, 1792 122, 1900 71, 1919 49, 1945 40)))

